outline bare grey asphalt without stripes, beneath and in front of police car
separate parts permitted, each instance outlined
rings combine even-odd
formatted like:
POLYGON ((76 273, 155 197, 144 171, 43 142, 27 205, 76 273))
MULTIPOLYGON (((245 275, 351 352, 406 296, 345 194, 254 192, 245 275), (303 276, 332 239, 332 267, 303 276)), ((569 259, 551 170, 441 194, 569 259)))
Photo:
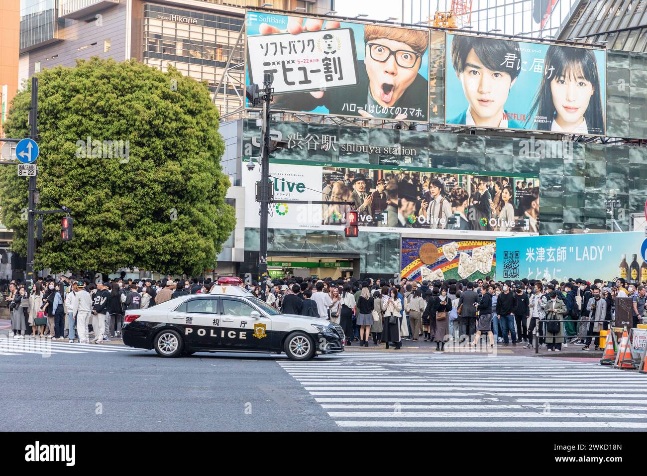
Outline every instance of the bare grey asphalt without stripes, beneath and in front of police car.
POLYGON ((267 354, 153 351, 0 356, 0 431, 325 431, 309 392, 267 354))

